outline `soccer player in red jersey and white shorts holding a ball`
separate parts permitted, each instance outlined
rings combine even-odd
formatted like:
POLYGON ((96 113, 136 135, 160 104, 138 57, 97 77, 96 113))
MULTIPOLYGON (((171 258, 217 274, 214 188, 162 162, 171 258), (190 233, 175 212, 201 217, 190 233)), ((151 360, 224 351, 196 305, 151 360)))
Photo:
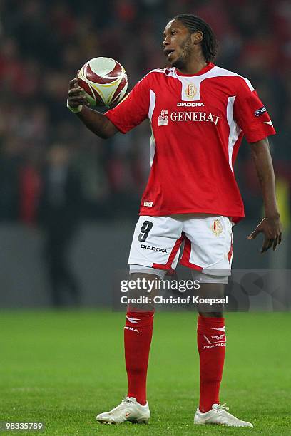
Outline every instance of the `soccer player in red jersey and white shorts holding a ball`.
MULTIPOLYGON (((175 16, 163 34, 171 68, 150 71, 106 114, 86 108, 78 79, 70 82, 68 108, 99 137, 126 133, 148 118, 151 171, 128 259, 132 278, 163 279, 180 263, 200 279, 202 295, 223 296, 232 261, 232 225, 244 216, 233 173, 242 136, 250 143, 262 188, 265 217, 250 234, 262 232, 261 252, 276 249, 281 224, 268 135, 275 130, 247 78, 213 64, 217 41, 197 16, 175 16), (146 244, 144 244, 146 242, 146 244), (148 250, 145 246, 159 247, 148 250)), ((153 311, 129 307, 124 330, 128 395, 99 422, 148 422, 146 374, 153 311)), ((199 311, 200 402, 195 424, 252 427, 220 405, 225 359, 223 313, 199 311)))

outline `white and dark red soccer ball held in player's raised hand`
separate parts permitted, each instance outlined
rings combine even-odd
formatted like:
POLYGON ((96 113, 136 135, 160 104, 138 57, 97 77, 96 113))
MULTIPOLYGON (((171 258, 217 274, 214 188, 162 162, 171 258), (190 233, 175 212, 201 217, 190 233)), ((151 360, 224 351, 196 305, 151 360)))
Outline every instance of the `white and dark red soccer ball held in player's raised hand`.
POLYGON ((79 85, 85 90, 92 106, 119 103, 128 87, 128 76, 123 66, 111 58, 93 58, 78 73, 79 85))

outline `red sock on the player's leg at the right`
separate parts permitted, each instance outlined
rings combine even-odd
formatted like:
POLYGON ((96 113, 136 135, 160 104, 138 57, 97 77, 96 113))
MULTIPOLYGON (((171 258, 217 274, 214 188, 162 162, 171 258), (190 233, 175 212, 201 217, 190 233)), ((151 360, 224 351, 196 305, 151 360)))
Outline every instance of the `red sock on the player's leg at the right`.
POLYGON ((225 360, 225 318, 198 317, 200 355, 200 412, 219 404, 219 388, 225 360))

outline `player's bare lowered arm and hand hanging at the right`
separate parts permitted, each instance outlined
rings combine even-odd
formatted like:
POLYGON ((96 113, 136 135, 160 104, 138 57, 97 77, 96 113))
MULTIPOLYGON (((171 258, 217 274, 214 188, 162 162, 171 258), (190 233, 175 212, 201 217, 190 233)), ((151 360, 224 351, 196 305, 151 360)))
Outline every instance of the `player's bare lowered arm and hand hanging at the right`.
POLYGON ((265 240, 262 245, 261 253, 268 249, 276 249, 282 239, 282 224, 280 214, 277 208, 275 193, 275 175, 270 155, 269 142, 267 137, 258 142, 250 144, 252 160, 257 170, 257 177, 260 181, 262 190, 262 199, 265 207, 265 218, 262 219, 257 228, 250 234, 248 239, 255 239, 260 232, 265 234, 265 240))

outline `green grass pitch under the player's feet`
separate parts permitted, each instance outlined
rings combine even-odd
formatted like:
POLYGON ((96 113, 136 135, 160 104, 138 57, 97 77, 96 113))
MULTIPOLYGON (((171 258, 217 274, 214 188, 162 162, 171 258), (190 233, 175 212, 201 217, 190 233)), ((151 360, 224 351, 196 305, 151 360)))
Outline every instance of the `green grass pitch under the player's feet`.
POLYGON ((46 435, 291 435, 291 313, 226 315, 220 400, 254 429, 193 425, 199 388, 195 318, 189 312, 155 315, 150 423, 101 425, 96 414, 126 395, 124 314, 1 311, 0 420, 44 422, 46 435))

